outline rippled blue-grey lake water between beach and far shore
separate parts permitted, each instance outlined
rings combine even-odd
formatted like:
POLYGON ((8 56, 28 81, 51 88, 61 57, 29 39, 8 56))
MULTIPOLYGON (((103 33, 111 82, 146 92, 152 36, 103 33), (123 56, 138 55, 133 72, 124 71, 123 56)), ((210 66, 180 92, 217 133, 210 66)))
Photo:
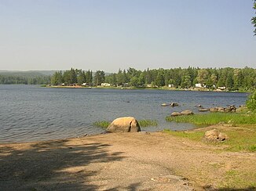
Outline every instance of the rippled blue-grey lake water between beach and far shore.
POLYGON ((64 139, 104 132, 95 121, 133 116, 157 120, 154 132, 164 128, 184 130, 192 124, 165 121, 174 111, 197 111, 196 106, 240 106, 247 93, 125 90, 95 88, 41 88, 35 85, 0 85, 0 142, 64 139), (177 102, 180 106, 161 106, 177 102))

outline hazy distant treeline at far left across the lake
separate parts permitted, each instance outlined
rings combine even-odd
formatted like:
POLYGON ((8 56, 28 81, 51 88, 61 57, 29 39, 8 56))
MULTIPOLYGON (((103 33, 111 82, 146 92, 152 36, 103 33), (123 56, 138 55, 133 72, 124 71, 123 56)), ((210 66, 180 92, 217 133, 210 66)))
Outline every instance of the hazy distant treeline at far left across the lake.
POLYGON ((24 84, 24 85, 43 85, 49 84, 50 76, 29 76, 27 74, 13 75, 13 74, 0 74, 0 84, 24 84))

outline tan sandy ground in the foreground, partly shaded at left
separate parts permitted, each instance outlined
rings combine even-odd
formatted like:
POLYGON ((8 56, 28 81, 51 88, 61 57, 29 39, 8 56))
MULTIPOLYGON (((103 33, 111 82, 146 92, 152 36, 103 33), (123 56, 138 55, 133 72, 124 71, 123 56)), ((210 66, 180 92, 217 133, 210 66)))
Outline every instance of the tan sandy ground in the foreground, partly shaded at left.
POLYGON ((2 144, 0 188, 203 190, 225 182, 232 169, 256 171, 255 153, 220 150, 161 132, 2 144))

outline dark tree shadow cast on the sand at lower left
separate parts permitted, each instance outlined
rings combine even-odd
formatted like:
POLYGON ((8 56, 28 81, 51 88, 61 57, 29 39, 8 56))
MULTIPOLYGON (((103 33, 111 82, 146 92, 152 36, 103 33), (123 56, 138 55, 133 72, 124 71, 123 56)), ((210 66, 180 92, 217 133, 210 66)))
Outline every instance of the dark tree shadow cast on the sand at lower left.
MULTIPOLYGON (((91 178, 100 168, 90 164, 122 160, 108 144, 72 145, 68 140, 29 143, 24 149, 0 145, 2 190, 97 190, 91 178)), ((130 185, 126 190, 134 190, 130 185)), ((118 188, 116 188, 118 189, 118 188)), ((112 189, 115 190, 115 189, 112 189)))

